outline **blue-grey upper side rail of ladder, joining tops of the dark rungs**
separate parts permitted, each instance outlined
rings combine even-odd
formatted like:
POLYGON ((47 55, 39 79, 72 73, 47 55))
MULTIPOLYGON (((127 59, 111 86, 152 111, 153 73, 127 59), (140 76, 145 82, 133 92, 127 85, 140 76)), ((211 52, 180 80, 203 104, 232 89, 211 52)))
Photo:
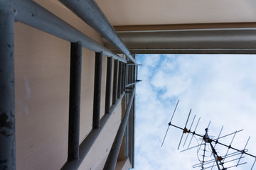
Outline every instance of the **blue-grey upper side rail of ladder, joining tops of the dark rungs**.
POLYGON ((80 30, 70 26, 70 24, 66 23, 33 1, 9 0, 8 3, 14 6, 16 11, 18 11, 15 16, 16 21, 25 23, 28 26, 32 26, 39 30, 43 30, 46 33, 50 33, 51 35, 55 35, 69 42, 80 41, 82 46, 89 50, 102 52, 103 55, 107 57, 113 57, 115 60, 127 62, 124 58, 110 52, 110 50, 100 45, 100 43, 92 40, 87 35, 80 32, 80 30))

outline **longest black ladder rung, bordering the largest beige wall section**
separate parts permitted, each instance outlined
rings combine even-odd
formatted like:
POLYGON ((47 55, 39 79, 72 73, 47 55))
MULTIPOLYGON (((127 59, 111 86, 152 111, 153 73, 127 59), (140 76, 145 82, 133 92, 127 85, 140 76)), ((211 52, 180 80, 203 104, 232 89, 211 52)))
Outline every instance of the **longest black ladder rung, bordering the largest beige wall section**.
POLYGON ((82 45, 80 42, 71 42, 68 161, 79 158, 81 68, 82 45))

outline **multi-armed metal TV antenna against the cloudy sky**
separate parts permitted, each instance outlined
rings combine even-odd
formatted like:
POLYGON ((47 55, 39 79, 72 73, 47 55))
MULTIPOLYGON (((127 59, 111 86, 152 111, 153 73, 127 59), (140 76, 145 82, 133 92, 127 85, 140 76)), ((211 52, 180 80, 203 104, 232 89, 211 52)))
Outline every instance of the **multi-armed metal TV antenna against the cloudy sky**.
POLYGON ((170 126, 173 126, 174 128, 177 128, 177 129, 180 129, 180 130, 183 131, 182 135, 181 135, 181 140, 178 143, 178 149, 181 146, 183 135, 186 135, 186 139, 183 143, 183 147, 185 147, 185 145, 186 145, 186 141, 188 140, 188 136, 191 135, 191 140, 188 143, 188 147, 186 149, 183 149, 181 152, 185 152, 189 149, 197 148, 199 163, 194 164, 192 166, 193 168, 200 168, 201 170, 205 170, 205 169, 213 170, 213 169, 216 169, 216 168, 218 170, 231 169, 231 168, 241 166, 243 164, 247 164, 247 162, 241 162, 241 160, 243 160, 245 158, 245 156, 249 156, 249 157, 252 157, 252 158, 255 159, 255 161, 253 162, 253 164, 250 168, 250 170, 252 170, 252 168, 254 167, 255 162, 256 162, 256 156, 252 155, 252 154, 249 154, 248 149, 246 148, 247 144, 250 140, 250 137, 248 138, 247 142, 245 143, 245 147, 243 149, 237 149, 237 148, 233 147, 232 144, 233 144, 233 141, 235 139, 235 136, 238 134, 238 132, 241 132, 242 130, 232 132, 228 135, 220 136, 221 132, 223 131, 223 127, 222 127, 220 132, 219 132, 218 137, 213 138, 209 135, 210 123, 208 123, 208 127, 205 129, 205 133, 203 135, 198 134, 196 132, 196 129, 198 128, 198 123, 200 122, 201 118, 198 118, 198 121, 196 123, 196 127, 194 128, 194 130, 191 130, 191 128, 193 127, 194 120, 196 119, 196 115, 193 116, 192 123, 191 123, 190 127, 187 128, 188 120, 190 118, 192 109, 188 113, 188 118, 186 120, 185 127, 180 128, 177 125, 174 125, 173 123, 171 123, 171 121, 174 118, 174 114, 176 112, 178 102, 179 102, 179 100, 176 103, 174 113, 171 115, 171 120, 168 123, 168 128, 166 130, 166 134, 164 135, 164 140, 161 144, 161 147, 163 147, 163 145, 164 145, 164 141, 166 139, 166 135, 167 135, 167 132, 169 131, 170 126), (231 140, 229 145, 219 141, 220 139, 223 139, 223 138, 228 137, 228 136, 232 137, 232 140, 231 140), (193 140, 193 138, 196 138, 196 140, 198 142, 198 145, 190 147, 191 141, 193 140), (224 149, 227 149, 225 154, 218 152, 217 146, 222 147, 224 149))

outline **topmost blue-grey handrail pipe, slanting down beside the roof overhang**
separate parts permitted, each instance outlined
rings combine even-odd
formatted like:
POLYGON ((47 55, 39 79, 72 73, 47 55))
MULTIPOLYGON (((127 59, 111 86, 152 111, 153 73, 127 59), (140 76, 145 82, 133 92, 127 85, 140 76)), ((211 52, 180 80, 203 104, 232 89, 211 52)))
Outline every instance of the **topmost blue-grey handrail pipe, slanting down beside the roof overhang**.
POLYGON ((65 6, 70 8, 76 15, 82 18, 85 23, 97 30, 103 37, 112 42, 120 51, 129 57, 134 64, 136 60, 132 57, 131 53, 124 45, 124 42, 119 38, 114 28, 111 26, 110 22, 107 21, 106 16, 101 11, 100 7, 97 6, 94 0, 85 1, 73 1, 73 0, 59 0, 65 6))

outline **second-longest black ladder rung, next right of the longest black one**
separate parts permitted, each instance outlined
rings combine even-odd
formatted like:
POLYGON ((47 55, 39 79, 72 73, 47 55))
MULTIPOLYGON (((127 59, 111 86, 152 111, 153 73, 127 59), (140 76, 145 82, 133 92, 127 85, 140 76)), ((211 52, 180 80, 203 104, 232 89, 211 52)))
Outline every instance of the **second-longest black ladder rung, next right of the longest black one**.
POLYGON ((100 128, 100 96, 102 81, 102 52, 95 52, 95 84, 93 97, 92 129, 100 128))

